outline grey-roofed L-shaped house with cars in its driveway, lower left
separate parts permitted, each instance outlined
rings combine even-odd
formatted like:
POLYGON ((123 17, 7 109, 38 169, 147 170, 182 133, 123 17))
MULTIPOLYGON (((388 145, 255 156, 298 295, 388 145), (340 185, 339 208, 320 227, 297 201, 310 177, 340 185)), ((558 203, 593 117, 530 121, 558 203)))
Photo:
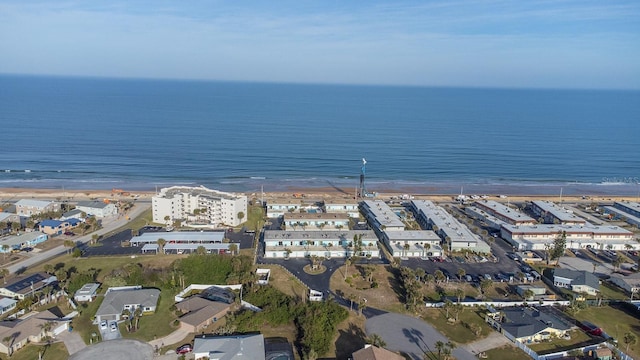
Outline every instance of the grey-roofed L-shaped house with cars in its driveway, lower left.
POLYGON ((137 308, 142 308, 143 313, 155 312, 159 298, 158 289, 142 289, 140 286, 109 288, 96 312, 96 320, 120 321, 125 310, 133 313, 137 308))

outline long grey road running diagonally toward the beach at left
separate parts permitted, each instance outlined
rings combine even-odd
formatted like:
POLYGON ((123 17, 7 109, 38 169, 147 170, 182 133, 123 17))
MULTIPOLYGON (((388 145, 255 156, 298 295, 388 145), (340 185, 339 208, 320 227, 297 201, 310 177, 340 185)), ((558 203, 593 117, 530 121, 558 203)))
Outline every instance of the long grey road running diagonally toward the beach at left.
MULTIPOLYGON (((141 202, 136 202, 135 205, 133 206, 133 208, 131 210, 129 210, 127 216, 129 217, 129 219, 135 219, 136 217, 138 217, 140 214, 142 214, 145 210, 149 209, 151 207, 151 204, 148 202, 145 203, 141 203, 141 202)), ((121 226, 124 226, 126 223, 128 223, 131 220, 127 220, 127 216, 120 216, 120 217, 116 217, 116 218, 112 218, 112 219, 106 219, 103 220, 103 224, 102 224, 102 229, 84 235, 84 236, 80 236, 78 238, 75 238, 74 240, 76 242, 82 242, 82 243, 88 243, 89 240, 91 240, 91 236, 93 234, 98 234, 98 235, 104 235, 107 234, 121 226)), ((50 240, 51 241, 51 240, 50 240)), ((47 261, 51 258, 54 258, 60 254, 64 254, 65 252, 69 251, 69 248, 65 248, 64 245, 60 245, 58 247, 55 247, 53 249, 49 249, 46 251, 42 251, 42 252, 32 252, 32 256, 19 261, 15 264, 12 264, 10 266, 7 266, 7 270, 9 270, 10 273, 15 273, 16 271, 20 270, 20 269, 24 269, 24 268, 28 268, 30 266, 33 266, 35 264, 39 264, 43 261, 47 261)))

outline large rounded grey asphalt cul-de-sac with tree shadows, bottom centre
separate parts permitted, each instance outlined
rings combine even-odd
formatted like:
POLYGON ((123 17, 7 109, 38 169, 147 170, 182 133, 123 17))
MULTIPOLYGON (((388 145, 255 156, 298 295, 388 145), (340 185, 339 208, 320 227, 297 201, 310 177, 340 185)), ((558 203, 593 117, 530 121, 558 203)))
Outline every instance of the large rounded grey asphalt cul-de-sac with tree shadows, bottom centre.
MULTIPOLYGON (((449 341, 426 322, 407 315, 387 313, 367 319, 367 335, 378 334, 387 349, 400 351, 412 360, 422 360, 427 352, 436 352, 435 343, 449 341)), ((457 347, 453 356, 458 360, 477 360, 467 349, 457 347)))

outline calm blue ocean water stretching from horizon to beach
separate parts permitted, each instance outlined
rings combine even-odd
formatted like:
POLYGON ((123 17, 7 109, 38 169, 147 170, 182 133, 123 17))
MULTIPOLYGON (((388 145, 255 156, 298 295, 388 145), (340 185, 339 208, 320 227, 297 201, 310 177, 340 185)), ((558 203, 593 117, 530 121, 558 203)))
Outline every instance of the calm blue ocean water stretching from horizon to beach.
POLYGON ((640 187, 640 91, 5 75, 0 124, 0 187, 640 187))

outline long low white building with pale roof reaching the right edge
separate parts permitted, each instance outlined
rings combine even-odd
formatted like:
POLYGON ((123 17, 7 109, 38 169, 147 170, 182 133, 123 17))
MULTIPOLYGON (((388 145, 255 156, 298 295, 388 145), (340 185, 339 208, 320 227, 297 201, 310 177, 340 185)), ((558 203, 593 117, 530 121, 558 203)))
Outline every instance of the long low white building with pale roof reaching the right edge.
POLYGON ((516 250, 544 250, 553 245, 558 236, 566 235, 568 249, 594 248, 598 250, 640 249, 631 231, 619 226, 552 225, 533 226, 503 225, 500 236, 516 250))

